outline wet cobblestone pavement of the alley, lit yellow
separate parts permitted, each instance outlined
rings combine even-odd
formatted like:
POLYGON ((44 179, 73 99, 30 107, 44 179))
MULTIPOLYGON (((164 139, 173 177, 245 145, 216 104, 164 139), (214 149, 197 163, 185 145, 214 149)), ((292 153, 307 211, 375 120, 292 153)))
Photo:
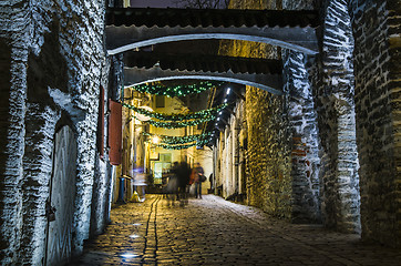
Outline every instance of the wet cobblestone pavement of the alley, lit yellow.
POLYGON ((401 265, 399 249, 276 221, 214 195, 185 206, 146 195, 113 208, 111 218, 71 265, 401 265))

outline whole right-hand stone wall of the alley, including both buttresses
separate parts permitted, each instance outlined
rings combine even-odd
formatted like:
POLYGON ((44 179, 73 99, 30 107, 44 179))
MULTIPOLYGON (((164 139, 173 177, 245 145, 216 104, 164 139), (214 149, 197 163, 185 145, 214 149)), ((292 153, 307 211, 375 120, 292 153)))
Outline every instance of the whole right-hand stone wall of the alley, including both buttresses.
MULTIPOLYGON (((247 98, 254 98, 247 99, 250 143, 247 177, 251 204, 275 213, 271 198, 277 200, 273 196, 277 191, 271 190, 274 178, 265 176, 275 175, 269 163, 278 160, 274 165, 285 170, 291 166, 294 222, 318 222, 321 212, 326 226, 359 233, 362 219, 363 238, 399 243, 400 21, 397 16, 400 11, 397 2, 232 1, 232 8, 318 9, 321 16, 320 54, 308 59, 286 50, 281 53, 285 88, 289 92, 287 102, 275 102, 276 99, 247 89, 247 98), (258 104, 253 106, 255 102, 258 104), (258 114, 280 110, 281 105, 287 108, 282 111, 288 117, 280 117, 277 112, 270 113, 270 121, 265 121, 258 114), (279 149, 269 146, 269 137, 277 132, 263 133, 258 126, 277 126, 277 130, 288 126, 289 132, 282 135, 292 142, 282 145, 279 156, 271 158, 279 149), (291 151, 290 164, 279 160, 285 151, 291 151)), ((277 58, 280 54, 280 50, 253 45, 222 42, 223 51, 232 55, 277 58)))

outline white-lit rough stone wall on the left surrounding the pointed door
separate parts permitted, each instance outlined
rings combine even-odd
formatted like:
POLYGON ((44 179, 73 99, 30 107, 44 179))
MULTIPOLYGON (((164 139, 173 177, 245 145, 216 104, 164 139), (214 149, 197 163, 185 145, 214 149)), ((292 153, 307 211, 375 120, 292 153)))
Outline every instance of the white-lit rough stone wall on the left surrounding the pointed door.
POLYGON ((106 76, 104 7, 84 0, 0 4, 1 43, 11 49, 10 62, 1 64, 11 82, 4 90, 10 106, 2 108, 9 120, 2 117, 8 139, 2 139, 0 257, 2 265, 39 265, 45 252, 53 136, 65 123, 78 141, 75 253, 89 236, 99 88, 106 76))

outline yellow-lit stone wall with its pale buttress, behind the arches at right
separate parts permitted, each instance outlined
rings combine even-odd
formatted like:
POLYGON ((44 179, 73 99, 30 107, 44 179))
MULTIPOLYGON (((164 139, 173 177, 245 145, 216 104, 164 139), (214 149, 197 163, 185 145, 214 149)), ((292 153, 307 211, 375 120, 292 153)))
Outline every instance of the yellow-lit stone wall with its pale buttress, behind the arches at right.
MULTIPOLYGON (((230 8, 296 9, 308 4, 232 1, 230 8)), ((240 41, 223 41, 220 53, 281 58, 280 49, 240 41)), ((286 50, 282 59, 286 96, 255 88, 246 92, 248 203, 292 222, 319 222, 318 131, 306 70, 308 60, 286 50)))

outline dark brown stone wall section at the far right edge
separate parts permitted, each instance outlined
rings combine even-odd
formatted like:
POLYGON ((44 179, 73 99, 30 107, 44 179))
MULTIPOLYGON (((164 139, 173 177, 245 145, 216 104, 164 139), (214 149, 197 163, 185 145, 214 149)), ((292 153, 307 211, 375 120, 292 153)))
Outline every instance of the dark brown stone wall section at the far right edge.
POLYGON ((400 1, 350 1, 362 238, 401 245, 400 1))

